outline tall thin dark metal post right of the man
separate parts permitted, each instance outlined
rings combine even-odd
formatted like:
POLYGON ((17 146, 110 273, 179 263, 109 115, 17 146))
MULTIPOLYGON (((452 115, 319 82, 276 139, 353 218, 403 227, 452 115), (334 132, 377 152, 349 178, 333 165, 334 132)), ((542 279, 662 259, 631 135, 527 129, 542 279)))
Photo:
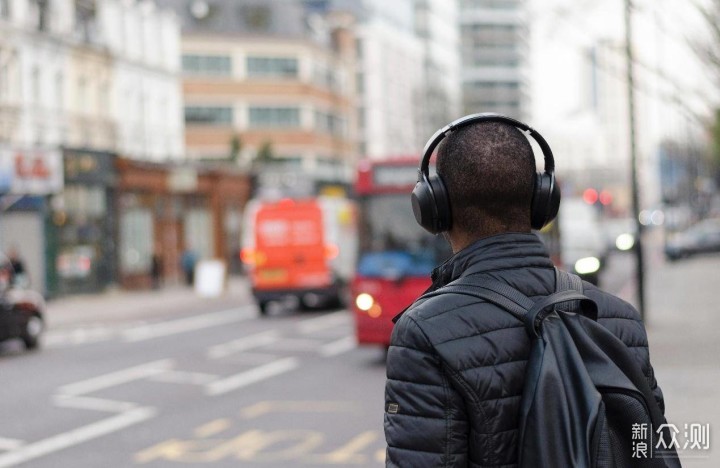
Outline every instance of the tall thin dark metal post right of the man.
POLYGON ((643 260, 643 231, 640 222, 640 187, 637 170, 637 135, 635 129, 635 68, 632 48, 632 1, 625 0, 625 56, 627 59, 628 126, 630 131, 630 166, 632 175, 632 204, 637 240, 635 242, 637 298, 640 318, 645 320, 645 262, 643 260))

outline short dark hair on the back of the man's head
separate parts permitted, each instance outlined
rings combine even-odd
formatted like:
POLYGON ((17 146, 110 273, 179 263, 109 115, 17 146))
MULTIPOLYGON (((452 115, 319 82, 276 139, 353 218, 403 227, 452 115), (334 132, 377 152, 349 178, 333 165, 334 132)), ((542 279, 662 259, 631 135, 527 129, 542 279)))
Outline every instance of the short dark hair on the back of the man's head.
POLYGON ((505 231, 530 230, 535 158, 516 127, 480 122, 453 132, 438 148, 437 173, 450 197, 453 228, 473 233, 491 222, 505 231))

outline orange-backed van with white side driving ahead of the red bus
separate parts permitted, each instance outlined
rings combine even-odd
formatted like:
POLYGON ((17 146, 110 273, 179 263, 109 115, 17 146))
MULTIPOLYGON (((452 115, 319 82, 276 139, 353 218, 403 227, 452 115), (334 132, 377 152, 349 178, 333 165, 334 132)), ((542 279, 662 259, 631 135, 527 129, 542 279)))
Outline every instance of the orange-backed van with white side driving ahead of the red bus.
POLYGON ((253 200, 245 219, 242 260, 261 313, 274 302, 291 307, 341 302, 357 248, 349 201, 253 200))

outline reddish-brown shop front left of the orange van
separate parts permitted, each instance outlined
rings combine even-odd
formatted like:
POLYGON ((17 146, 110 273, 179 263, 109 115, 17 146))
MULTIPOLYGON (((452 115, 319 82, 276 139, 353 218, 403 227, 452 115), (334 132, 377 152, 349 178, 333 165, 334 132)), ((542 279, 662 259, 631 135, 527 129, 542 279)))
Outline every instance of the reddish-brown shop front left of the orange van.
POLYGON ((221 259, 232 271, 250 194, 245 174, 128 159, 117 167, 122 286, 179 284, 187 277, 184 267, 202 259, 221 259))

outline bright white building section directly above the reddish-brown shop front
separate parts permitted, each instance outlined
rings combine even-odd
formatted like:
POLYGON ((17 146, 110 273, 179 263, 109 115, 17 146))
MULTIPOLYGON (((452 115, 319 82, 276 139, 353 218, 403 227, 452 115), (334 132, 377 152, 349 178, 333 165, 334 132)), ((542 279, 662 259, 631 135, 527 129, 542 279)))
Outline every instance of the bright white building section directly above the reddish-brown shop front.
POLYGON ((118 152, 156 161, 181 158, 179 21, 151 1, 101 0, 98 6, 99 39, 113 56, 118 152))

